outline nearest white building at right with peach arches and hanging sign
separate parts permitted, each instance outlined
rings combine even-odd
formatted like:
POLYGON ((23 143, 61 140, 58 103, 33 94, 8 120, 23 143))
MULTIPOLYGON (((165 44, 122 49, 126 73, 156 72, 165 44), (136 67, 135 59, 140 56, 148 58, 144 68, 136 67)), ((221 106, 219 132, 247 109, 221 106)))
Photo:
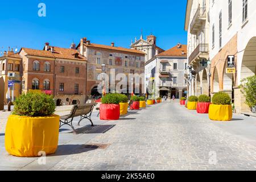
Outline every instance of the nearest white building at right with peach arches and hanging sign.
POLYGON ((256 1, 210 1, 209 7, 211 93, 229 93, 236 111, 247 112, 238 86, 242 78, 255 75, 256 1), (226 73, 229 56, 234 56, 236 73, 226 73))

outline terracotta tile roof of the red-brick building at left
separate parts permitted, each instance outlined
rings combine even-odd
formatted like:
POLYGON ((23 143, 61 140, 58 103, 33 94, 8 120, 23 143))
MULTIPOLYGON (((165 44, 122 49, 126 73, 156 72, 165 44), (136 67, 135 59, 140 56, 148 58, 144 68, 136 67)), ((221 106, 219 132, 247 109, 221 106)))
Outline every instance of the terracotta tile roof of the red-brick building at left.
POLYGON ((31 48, 22 48, 22 49, 27 53, 27 55, 31 55, 31 56, 42 56, 42 57, 52 57, 52 58, 59 58, 59 59, 86 61, 86 57, 82 56, 79 53, 79 51, 77 51, 76 49, 54 47, 53 52, 38 50, 38 49, 31 49, 31 48), (77 57, 75 57, 76 54, 77 54, 77 57))

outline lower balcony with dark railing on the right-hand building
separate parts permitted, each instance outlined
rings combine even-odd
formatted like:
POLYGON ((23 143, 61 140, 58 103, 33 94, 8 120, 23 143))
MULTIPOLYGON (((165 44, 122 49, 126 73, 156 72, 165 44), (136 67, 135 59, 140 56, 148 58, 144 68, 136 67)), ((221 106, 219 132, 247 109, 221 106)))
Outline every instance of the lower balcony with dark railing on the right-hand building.
POLYGON ((188 64, 190 65, 194 60, 200 60, 200 58, 208 59, 209 45, 199 44, 188 58, 188 64))

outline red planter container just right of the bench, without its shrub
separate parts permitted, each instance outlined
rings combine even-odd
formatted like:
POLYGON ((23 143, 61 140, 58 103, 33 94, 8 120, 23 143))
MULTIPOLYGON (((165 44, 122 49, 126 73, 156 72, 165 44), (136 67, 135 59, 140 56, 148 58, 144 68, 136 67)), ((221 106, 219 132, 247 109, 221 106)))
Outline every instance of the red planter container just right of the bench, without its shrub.
POLYGON ((119 104, 101 104, 100 119, 101 120, 118 120, 120 118, 119 104))

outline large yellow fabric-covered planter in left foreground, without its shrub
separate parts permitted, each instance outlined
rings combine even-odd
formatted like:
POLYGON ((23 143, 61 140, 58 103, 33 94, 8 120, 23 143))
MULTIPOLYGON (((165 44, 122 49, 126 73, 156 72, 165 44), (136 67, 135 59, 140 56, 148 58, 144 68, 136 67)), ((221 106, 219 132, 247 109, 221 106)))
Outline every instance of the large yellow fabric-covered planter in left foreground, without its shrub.
POLYGON ((5 131, 6 151, 19 157, 39 156, 39 151, 46 152, 46 155, 55 153, 59 140, 59 123, 59 115, 10 115, 5 131))

